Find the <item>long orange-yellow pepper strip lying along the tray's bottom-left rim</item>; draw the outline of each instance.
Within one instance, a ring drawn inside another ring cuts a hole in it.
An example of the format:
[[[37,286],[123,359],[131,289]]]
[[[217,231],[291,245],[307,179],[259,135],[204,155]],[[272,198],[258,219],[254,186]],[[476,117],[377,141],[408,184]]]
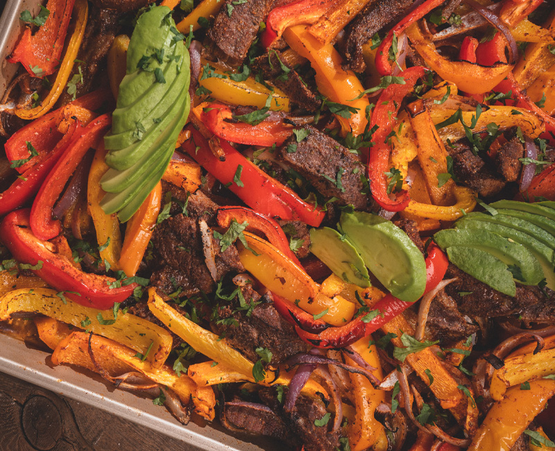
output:
[[[103,361],[115,360],[126,364],[132,371],[142,373],[153,382],[167,386],[173,390],[184,405],[194,404],[194,411],[206,418],[214,419],[216,399],[210,387],[198,387],[187,375],[178,376],[169,366],[155,368],[148,361],[137,357],[134,350],[115,341],[92,335],[90,347],[94,358],[100,364]],[[97,371],[89,356],[89,334],[74,332],[67,339],[60,342],[52,354],[52,362],[59,364],[74,364]]]

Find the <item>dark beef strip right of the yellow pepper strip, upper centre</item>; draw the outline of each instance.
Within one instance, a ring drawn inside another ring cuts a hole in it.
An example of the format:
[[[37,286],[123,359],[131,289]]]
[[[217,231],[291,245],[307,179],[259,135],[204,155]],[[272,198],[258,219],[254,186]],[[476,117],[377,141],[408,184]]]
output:
[[[282,65],[289,69],[284,73]],[[300,76],[285,62],[278,51],[257,57],[253,62],[253,70],[261,71],[265,80],[271,80],[287,96],[293,105],[299,105],[307,111],[316,111],[322,101],[316,97]]]

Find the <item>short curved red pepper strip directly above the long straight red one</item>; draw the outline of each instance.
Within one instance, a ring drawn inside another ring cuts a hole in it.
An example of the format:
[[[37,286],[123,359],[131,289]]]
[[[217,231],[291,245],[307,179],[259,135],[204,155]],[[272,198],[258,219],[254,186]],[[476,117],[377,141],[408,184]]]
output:
[[[280,146],[293,134],[293,127],[282,121],[264,120],[255,126],[245,122],[227,122],[232,119],[231,108],[221,103],[210,103],[200,114],[200,120],[214,135],[226,141],[251,146]]]

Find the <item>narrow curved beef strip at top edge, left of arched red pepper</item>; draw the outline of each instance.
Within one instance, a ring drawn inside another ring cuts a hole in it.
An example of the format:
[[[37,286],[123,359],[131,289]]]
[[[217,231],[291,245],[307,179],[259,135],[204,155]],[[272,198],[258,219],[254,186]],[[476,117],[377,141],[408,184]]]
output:
[[[345,41],[340,50],[345,56],[345,69],[363,72],[366,63],[362,46],[388,24],[398,22],[412,5],[412,0],[372,0],[345,28]],[[382,36],[383,37],[383,36]]]

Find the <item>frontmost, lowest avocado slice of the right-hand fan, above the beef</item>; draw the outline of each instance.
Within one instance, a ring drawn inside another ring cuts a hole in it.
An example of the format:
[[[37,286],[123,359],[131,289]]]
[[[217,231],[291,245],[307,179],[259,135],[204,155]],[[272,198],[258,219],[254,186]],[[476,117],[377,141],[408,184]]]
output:
[[[447,257],[461,271],[472,275],[499,293],[515,296],[516,284],[509,267],[485,250],[451,246],[447,248]]]

